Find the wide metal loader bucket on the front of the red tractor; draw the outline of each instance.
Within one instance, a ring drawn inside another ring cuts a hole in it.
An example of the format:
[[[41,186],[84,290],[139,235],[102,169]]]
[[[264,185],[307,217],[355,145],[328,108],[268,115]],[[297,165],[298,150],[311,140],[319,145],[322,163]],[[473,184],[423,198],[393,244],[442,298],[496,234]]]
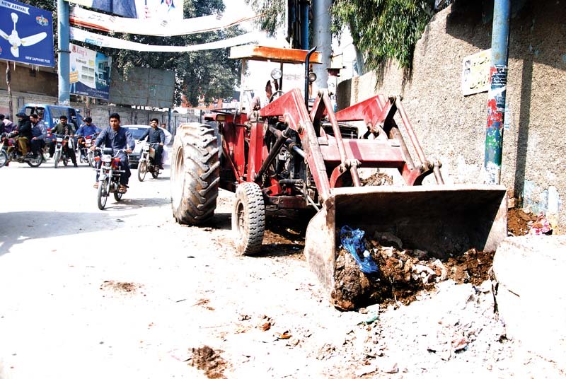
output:
[[[342,226],[360,228],[367,238],[391,233],[403,249],[446,258],[471,248],[495,251],[507,236],[504,186],[430,185],[343,187],[311,219],[304,254],[333,299]],[[377,238],[376,238],[377,240]]]

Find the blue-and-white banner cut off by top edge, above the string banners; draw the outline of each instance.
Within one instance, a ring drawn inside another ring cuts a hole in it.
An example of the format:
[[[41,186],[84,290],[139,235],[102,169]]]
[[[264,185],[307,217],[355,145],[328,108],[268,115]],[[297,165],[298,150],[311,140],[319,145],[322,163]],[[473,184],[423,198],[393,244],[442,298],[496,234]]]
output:
[[[127,18],[183,20],[183,0],[67,0]]]

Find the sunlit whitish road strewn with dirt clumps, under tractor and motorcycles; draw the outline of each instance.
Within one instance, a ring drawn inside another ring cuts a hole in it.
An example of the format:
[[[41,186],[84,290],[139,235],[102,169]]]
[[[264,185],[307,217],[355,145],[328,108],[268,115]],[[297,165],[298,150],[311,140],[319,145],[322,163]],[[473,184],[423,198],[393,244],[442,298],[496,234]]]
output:
[[[209,225],[180,226],[169,170],[136,173],[100,211],[86,165],[0,169],[0,379],[542,377],[504,338],[489,286],[446,285],[457,294],[444,308],[428,295],[340,312],[309,272],[300,232],[237,257],[231,193]],[[469,310],[468,322],[451,310]],[[423,339],[464,326],[454,349]]]

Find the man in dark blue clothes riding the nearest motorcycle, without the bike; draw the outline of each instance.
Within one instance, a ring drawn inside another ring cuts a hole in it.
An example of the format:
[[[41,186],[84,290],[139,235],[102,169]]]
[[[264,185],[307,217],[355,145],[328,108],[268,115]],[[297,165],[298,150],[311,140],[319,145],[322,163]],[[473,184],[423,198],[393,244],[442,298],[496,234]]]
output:
[[[120,115],[112,113],[112,115],[108,117],[108,122],[110,122],[110,127],[107,127],[98,134],[91,150],[96,150],[96,148],[100,147],[102,144],[104,144],[105,147],[111,147],[114,150],[126,150],[126,153],[120,152],[119,154],[120,170],[125,172],[120,173],[120,187],[118,187],[118,192],[125,194],[127,191],[129,177],[132,175],[129,170],[127,154],[132,153],[132,150],[134,150],[134,147],[136,146],[136,142],[132,138],[132,134],[130,134],[128,129],[120,127]],[[93,186],[95,188],[98,188],[98,175],[100,174],[98,168],[100,168],[100,163],[97,163],[96,183]]]

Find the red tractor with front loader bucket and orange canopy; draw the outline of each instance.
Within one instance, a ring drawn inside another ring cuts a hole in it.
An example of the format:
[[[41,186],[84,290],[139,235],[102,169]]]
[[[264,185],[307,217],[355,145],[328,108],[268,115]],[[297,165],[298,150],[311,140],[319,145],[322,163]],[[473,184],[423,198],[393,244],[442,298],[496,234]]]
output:
[[[320,62],[313,50],[243,47],[231,55],[305,64],[305,91],[309,65]],[[376,95],[334,112],[327,91],[312,105],[298,88],[278,94],[250,119],[219,110],[209,116],[217,127],[178,128],[171,199],[179,223],[204,223],[214,215],[219,188],[235,192],[236,250],[253,255],[262,246],[266,209],[316,209],[304,252],[328,289],[334,288],[336,230],[343,225],[389,231],[405,246],[439,257],[471,247],[493,251],[507,236],[506,189],[445,185],[400,98]],[[356,122],[364,123],[362,132]],[[364,186],[359,168],[396,169],[403,185]],[[422,185],[430,174],[436,184]]]

